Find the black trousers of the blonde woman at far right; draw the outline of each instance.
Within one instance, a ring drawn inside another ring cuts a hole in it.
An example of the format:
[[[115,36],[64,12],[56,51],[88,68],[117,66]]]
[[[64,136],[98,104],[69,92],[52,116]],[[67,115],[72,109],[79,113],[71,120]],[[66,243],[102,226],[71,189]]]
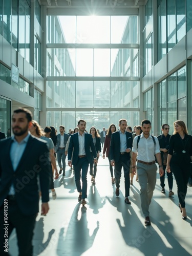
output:
[[[179,203],[182,208],[185,207],[185,197],[187,194],[187,183],[190,176],[190,163],[172,163],[170,165],[172,169],[176,182],[177,182],[177,194],[179,198]]]

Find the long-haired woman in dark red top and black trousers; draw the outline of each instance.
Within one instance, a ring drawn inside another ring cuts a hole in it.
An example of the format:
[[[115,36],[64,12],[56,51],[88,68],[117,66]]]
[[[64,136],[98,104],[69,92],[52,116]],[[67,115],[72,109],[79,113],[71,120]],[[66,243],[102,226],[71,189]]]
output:
[[[111,165],[111,159],[110,159],[110,142],[111,142],[111,135],[112,133],[116,132],[116,126],[115,124],[111,124],[108,132],[106,133],[106,137],[105,137],[105,141],[104,141],[104,147],[103,147],[103,159],[105,159],[105,152],[106,152],[106,157],[108,157],[109,159],[109,163],[110,163],[110,173],[111,173],[111,179],[112,179],[112,184],[115,183],[114,181],[114,176],[113,176],[113,166]]]

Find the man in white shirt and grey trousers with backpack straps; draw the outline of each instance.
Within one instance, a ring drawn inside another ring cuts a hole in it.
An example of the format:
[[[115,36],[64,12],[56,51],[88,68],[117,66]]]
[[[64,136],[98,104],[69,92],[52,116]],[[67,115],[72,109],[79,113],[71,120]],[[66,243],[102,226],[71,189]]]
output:
[[[140,184],[141,208],[145,217],[145,225],[151,225],[149,206],[153,197],[156,184],[156,159],[159,164],[160,177],[164,170],[162,166],[159,141],[157,137],[150,135],[151,122],[143,120],[141,122],[142,134],[136,136],[132,148],[132,172],[137,173]],[[155,159],[156,158],[156,159]],[[136,166],[137,159],[137,166]]]

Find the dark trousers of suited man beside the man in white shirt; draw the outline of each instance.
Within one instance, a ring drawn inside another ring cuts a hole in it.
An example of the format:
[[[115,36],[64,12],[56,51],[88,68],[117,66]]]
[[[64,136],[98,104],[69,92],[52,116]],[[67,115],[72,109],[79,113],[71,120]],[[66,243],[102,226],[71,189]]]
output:
[[[130,195],[130,159],[127,160],[127,154],[120,155],[119,161],[115,162],[115,184],[120,187],[121,169],[124,171],[125,197]]]

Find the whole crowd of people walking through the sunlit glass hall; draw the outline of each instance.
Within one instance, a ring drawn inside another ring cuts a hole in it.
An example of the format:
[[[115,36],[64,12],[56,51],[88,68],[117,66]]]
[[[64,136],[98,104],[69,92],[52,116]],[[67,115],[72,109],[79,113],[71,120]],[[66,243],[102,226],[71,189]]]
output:
[[[87,174],[96,184],[99,157],[109,160],[109,175],[116,186],[115,195],[120,195],[122,169],[124,177],[124,202],[131,204],[130,185],[134,175],[140,185],[141,209],[144,224],[151,225],[150,204],[152,201],[159,169],[161,193],[165,194],[165,173],[168,181],[168,196],[172,197],[173,179],[177,183],[179,209],[182,219],[187,219],[185,198],[190,177],[192,161],[192,137],[181,120],[174,122],[174,133],[169,135],[169,125],[162,124],[162,134],[151,134],[150,120],[142,120],[141,125],[127,125],[126,119],[120,119],[118,130],[115,124],[102,131],[92,126],[86,131],[86,121],[80,119],[69,134],[65,126],[59,126],[57,134],[54,126],[42,129],[32,120],[29,110],[19,108],[12,116],[13,136],[0,138],[0,254],[9,255],[5,250],[4,213],[7,203],[8,236],[16,228],[19,255],[32,255],[32,237],[35,218],[39,211],[39,198],[42,200],[41,215],[49,211],[49,189],[56,199],[54,179],[66,175],[66,158],[70,170],[74,169],[74,178],[78,201],[87,204]],[[9,159],[9,161],[7,161]],[[59,170],[57,170],[57,164]],[[174,177],[173,177],[174,175]],[[19,193],[18,193],[19,192]],[[27,234],[27,236],[26,236]]]

